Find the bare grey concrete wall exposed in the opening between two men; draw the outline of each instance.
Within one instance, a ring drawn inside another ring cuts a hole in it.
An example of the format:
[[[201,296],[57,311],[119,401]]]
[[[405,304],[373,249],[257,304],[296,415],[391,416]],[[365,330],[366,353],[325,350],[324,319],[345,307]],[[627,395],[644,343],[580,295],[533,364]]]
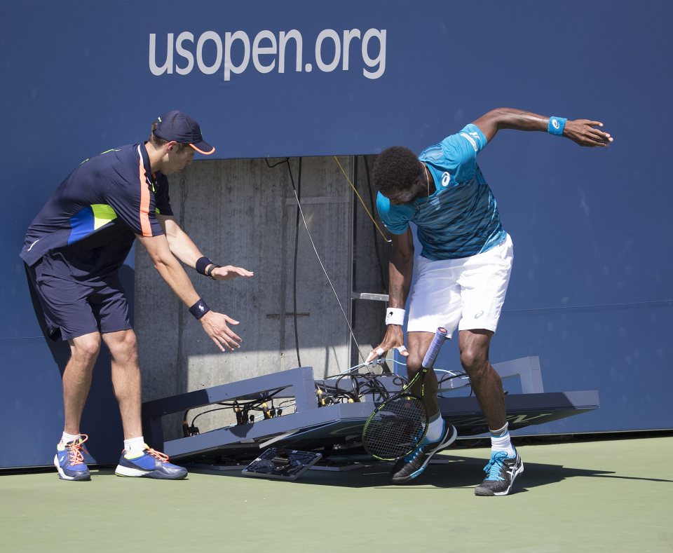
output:
[[[339,163],[351,182],[358,165],[355,181],[371,211],[365,163],[363,158],[358,158],[359,163],[355,159],[341,157]],[[136,248],[135,329],[143,400],[299,366],[293,315],[297,200],[287,163],[282,159],[268,163],[278,165],[269,168],[264,159],[197,161],[172,177],[175,216],[200,250],[219,264],[243,266],[255,275],[215,282],[188,271],[211,308],[240,321],[236,333],[243,338],[242,347],[220,353],[159,278],[147,252]],[[355,339],[367,355],[381,336],[384,304],[351,303],[351,290],[383,291],[372,222],[333,157],[302,158],[301,178],[299,164],[298,158],[290,160],[308,230],[341,306],[353,321]],[[298,229],[299,358],[301,365],[312,366],[320,378],[357,363],[358,351],[354,345],[351,348],[348,325],[301,218]],[[376,241],[387,273],[386,243],[378,233]],[[190,412],[190,420],[196,413]],[[166,418],[168,436],[179,432],[177,418]],[[198,426],[203,432],[223,422],[219,416],[203,416]]]

